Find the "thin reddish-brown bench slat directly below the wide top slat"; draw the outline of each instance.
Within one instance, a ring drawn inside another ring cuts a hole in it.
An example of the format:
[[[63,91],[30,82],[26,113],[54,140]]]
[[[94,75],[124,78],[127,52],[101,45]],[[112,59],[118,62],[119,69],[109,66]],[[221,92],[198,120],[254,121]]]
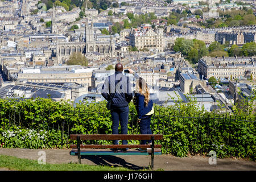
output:
[[[71,148],[77,148],[76,144],[72,144]],[[85,144],[80,148],[150,148],[150,144]],[[155,144],[154,148],[161,148],[161,144]]]

